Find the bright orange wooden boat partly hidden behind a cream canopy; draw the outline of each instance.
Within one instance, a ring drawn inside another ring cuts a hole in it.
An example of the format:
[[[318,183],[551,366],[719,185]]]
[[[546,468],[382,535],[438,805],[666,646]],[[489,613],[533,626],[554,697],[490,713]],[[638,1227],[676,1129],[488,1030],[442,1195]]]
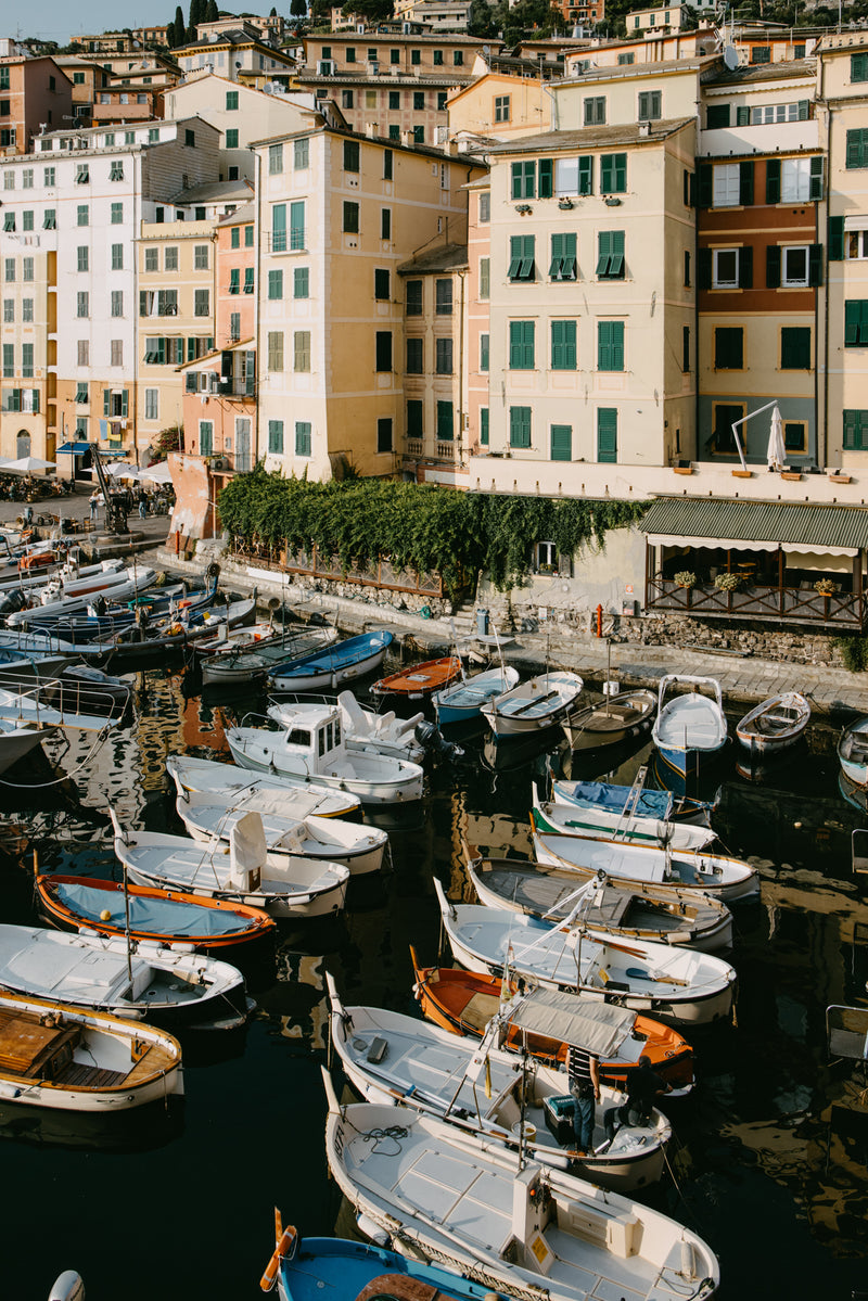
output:
[[[415,976],[414,994],[422,1011],[446,1030],[481,1038],[492,1016],[500,1011],[501,981],[498,976],[466,972],[459,967],[420,967],[415,948],[410,946]],[[511,984],[513,993],[517,985]],[[519,1049],[522,1030],[510,1026],[506,1045]],[[652,1069],[673,1089],[686,1089],[694,1084],[694,1050],[675,1030],[649,1016],[636,1016],[630,1041],[635,1039],[635,1064],[640,1055],[651,1058]],[[527,1036],[527,1050],[549,1066],[566,1063],[567,1045],[543,1034]],[[623,1045],[622,1045],[623,1050]],[[613,1088],[623,1088],[630,1063],[599,1063],[600,1079]]]

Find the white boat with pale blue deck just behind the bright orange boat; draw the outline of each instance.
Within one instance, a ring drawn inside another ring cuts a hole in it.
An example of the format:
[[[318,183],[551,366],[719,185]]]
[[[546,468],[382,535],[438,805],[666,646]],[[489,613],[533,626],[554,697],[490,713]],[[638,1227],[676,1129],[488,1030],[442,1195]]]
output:
[[[729,1016],[735,971],[712,954],[634,939],[614,943],[569,919],[556,925],[510,909],[453,904],[435,877],[454,958],[471,972],[530,977],[549,989],[614,999],[634,1012],[704,1025]]]

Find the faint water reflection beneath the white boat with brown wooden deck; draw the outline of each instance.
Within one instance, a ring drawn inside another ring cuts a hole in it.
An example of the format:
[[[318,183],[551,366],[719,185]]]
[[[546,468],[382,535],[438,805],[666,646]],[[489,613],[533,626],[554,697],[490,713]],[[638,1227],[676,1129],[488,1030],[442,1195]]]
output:
[[[22,1107],[0,1101],[0,1138],[39,1147],[137,1153],[165,1147],[183,1133],[183,1098],[109,1114]]]

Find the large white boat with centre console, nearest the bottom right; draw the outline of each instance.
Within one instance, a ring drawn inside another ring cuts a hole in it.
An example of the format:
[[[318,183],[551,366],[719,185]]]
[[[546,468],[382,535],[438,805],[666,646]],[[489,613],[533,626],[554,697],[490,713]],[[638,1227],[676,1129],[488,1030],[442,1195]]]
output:
[[[357,1213],[402,1252],[518,1301],[714,1293],[713,1253],[660,1211],[410,1107],[341,1107],[329,1077],[325,1086],[329,1170]],[[389,1137],[371,1141],[375,1133]]]

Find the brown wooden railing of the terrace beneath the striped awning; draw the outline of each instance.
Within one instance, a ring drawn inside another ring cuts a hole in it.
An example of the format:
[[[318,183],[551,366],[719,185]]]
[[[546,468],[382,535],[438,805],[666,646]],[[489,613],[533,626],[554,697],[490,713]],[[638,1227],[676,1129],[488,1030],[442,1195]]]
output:
[[[858,627],[864,623],[864,592],[833,592],[822,596],[807,587],[772,587],[746,583],[725,592],[713,583],[679,587],[674,579],[652,574],[645,582],[645,610],[674,610],[701,618],[785,619],[787,623],[833,623]]]

